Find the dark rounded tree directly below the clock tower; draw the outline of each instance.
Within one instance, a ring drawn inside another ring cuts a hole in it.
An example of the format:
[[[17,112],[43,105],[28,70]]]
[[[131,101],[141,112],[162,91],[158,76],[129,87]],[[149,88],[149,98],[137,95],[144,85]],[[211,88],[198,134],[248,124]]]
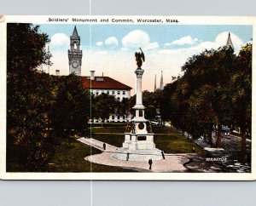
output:
[[[90,117],[90,93],[84,89],[80,77],[74,74],[56,78],[58,89],[51,112],[52,125],[62,135],[66,129],[69,140],[72,129],[86,128]]]

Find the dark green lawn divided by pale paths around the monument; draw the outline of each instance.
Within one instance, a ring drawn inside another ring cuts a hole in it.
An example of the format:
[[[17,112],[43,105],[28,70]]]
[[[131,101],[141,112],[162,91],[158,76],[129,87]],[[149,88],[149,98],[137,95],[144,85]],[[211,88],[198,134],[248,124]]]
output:
[[[193,147],[195,152],[202,151],[201,147],[179,134],[175,129],[154,128],[153,130],[156,147],[166,153],[188,153],[192,152]],[[94,127],[90,131],[92,138],[113,146],[120,147],[125,140],[124,125]],[[49,162],[49,172],[135,172],[84,161],[84,157],[96,153],[101,153],[101,151],[84,145],[74,138],[70,142],[61,139],[59,146],[55,147],[55,155]]]

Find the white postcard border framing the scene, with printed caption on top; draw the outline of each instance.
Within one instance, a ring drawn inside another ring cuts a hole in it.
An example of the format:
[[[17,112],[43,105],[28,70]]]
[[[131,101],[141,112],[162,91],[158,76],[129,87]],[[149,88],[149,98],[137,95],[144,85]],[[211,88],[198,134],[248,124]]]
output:
[[[51,19],[69,19],[65,21],[49,21]],[[110,22],[73,22],[77,19],[108,19]],[[137,18],[145,20],[163,20],[164,23],[143,22],[137,23]],[[128,22],[111,22],[115,20],[134,20]],[[165,20],[178,20],[178,23],[166,23]],[[7,23],[34,23],[34,24],[122,24],[122,25],[252,25],[253,42],[256,39],[256,17],[253,16],[82,16],[82,15],[20,15],[0,16],[0,177],[4,180],[255,180],[256,141],[252,138],[252,165],[251,173],[11,173],[6,172],[6,24]],[[253,82],[255,80],[255,45],[253,43]],[[252,136],[256,134],[255,127],[255,90],[253,83],[252,98]]]

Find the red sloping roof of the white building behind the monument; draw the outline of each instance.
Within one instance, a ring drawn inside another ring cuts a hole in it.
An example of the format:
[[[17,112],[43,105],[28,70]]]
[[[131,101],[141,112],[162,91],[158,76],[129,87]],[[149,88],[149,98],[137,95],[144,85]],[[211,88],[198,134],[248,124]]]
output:
[[[120,83],[117,80],[114,80],[111,77],[95,77],[94,80],[91,80],[90,87],[90,77],[81,77],[84,88],[88,89],[125,89],[131,90],[132,88]]]

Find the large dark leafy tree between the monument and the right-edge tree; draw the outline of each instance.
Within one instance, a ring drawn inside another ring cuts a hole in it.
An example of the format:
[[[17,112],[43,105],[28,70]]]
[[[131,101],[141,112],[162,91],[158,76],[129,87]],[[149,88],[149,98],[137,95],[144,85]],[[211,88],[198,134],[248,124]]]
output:
[[[164,89],[162,113],[169,112],[177,128],[194,138],[206,136],[210,143],[212,125],[218,125],[216,146],[221,146],[221,127],[231,121],[229,81],[235,66],[236,55],[231,49],[205,50],[193,55],[182,67],[183,76]]]

